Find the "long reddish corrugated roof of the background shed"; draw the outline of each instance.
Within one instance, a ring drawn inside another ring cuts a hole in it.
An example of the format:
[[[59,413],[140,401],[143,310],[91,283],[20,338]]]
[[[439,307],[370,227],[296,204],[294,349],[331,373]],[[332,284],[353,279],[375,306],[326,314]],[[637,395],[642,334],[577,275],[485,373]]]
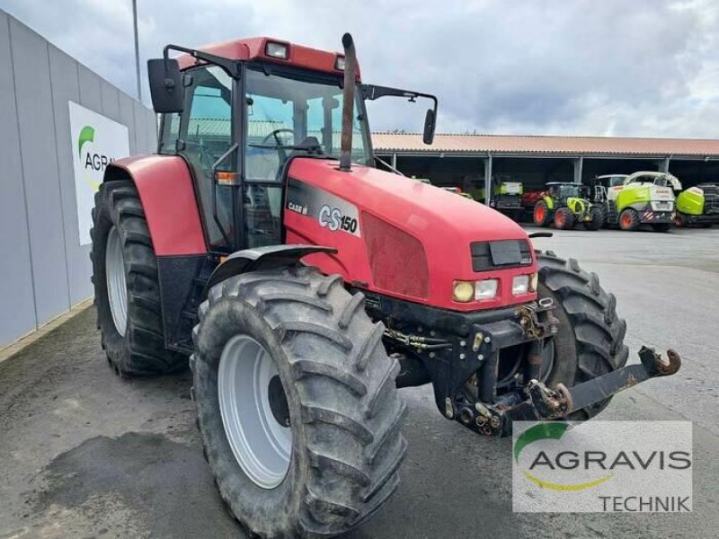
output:
[[[719,140],[698,138],[442,135],[427,146],[416,133],[372,133],[372,146],[390,153],[491,153],[536,155],[719,156]]]

